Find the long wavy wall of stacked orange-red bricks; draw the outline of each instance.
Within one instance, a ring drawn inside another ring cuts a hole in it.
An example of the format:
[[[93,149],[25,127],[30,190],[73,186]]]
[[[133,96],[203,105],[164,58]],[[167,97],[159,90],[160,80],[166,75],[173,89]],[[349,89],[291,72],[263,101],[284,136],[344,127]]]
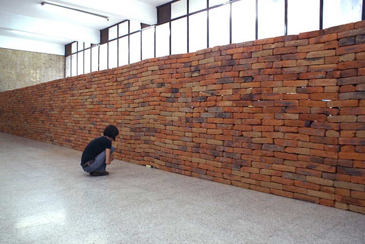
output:
[[[365,213],[365,21],[0,94],[2,132]]]

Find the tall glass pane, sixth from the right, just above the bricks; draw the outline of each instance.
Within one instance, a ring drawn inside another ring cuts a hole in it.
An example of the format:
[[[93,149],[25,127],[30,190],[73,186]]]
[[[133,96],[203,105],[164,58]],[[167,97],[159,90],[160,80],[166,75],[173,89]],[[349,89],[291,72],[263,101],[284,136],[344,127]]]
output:
[[[189,17],[189,52],[207,48],[206,11]]]

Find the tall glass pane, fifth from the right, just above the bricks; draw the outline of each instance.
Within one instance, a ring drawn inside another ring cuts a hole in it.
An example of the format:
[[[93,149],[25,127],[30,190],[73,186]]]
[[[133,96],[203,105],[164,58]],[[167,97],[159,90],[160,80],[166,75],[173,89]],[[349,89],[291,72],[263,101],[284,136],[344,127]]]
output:
[[[229,44],[229,4],[209,10],[209,47]]]

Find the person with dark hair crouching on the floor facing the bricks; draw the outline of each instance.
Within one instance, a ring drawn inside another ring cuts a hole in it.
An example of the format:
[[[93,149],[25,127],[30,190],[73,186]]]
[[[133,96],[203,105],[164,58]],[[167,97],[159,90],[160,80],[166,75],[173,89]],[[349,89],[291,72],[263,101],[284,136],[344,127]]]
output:
[[[92,176],[108,175],[107,165],[114,159],[111,155],[114,147],[111,145],[118,136],[119,131],[114,125],[108,125],[104,130],[104,136],[89,142],[81,156],[82,169]]]

